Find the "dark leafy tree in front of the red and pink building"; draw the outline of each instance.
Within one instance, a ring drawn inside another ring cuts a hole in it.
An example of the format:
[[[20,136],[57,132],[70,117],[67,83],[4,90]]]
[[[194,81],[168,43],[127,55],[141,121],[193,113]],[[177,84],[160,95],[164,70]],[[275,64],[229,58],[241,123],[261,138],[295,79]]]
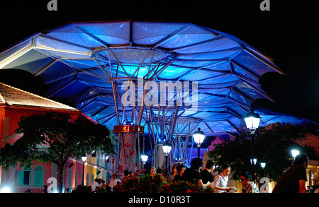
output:
[[[5,170],[21,162],[30,167],[32,162],[57,164],[57,187],[62,192],[63,168],[69,157],[81,158],[84,153],[100,149],[114,153],[110,131],[82,116],[72,119],[67,114],[45,113],[21,117],[16,133],[22,134],[12,145],[6,143],[0,150],[0,165]],[[39,146],[45,148],[40,150]]]

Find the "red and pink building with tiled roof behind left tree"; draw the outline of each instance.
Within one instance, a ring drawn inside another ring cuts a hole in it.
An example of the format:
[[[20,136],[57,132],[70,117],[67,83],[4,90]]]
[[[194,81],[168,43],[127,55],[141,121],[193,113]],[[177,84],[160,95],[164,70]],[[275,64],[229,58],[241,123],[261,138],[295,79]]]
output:
[[[67,105],[0,83],[0,148],[5,143],[14,143],[21,137],[15,131],[22,116],[45,112],[66,113],[72,119],[77,119],[79,116],[86,117],[79,110]],[[82,184],[83,174],[84,185],[89,185],[96,177],[108,182],[108,177],[111,175],[108,169],[111,169],[111,162],[106,162],[106,155],[99,150],[94,156],[88,155],[85,163],[82,160],[69,158],[63,175],[64,189],[72,189]],[[20,167],[18,163],[16,167],[9,167],[8,170],[0,167],[0,190],[7,188],[11,192],[24,193],[30,189],[32,193],[41,193],[43,186],[47,185],[49,191],[55,192],[56,178],[57,165],[54,163],[35,161],[30,168]]]

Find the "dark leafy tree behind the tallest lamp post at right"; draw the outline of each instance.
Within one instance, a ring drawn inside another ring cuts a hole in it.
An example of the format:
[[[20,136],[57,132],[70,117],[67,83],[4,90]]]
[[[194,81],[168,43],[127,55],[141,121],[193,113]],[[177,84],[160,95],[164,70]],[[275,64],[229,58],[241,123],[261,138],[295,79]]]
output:
[[[306,130],[303,126],[291,124],[271,124],[269,126],[259,127],[254,138],[254,156],[259,162],[266,162],[264,175],[270,180],[278,180],[281,174],[292,163],[291,149],[298,146],[296,140],[305,137]],[[233,179],[239,179],[242,172],[251,170],[251,140],[247,134],[240,134],[235,141],[222,143],[208,153],[208,156],[216,162],[216,165],[223,165],[228,162],[233,171]],[[306,153],[309,158],[315,155],[313,148],[298,146],[301,152]],[[262,168],[256,165],[254,172],[257,177],[261,177]]]

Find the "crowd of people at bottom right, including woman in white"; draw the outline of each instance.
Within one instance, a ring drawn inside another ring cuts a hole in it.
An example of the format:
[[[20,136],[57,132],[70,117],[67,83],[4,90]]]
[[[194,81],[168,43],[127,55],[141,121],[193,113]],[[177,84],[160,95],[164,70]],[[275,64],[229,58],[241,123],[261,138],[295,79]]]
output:
[[[304,153],[300,153],[296,156],[291,167],[286,170],[283,175],[279,178],[276,186],[273,189],[273,193],[307,193],[310,192],[310,187],[306,189],[306,169],[308,167],[308,156]],[[213,177],[212,172],[214,168],[214,162],[208,160],[205,169],[199,172],[202,165],[200,158],[195,158],[191,162],[191,167],[189,169],[181,172],[181,177],[177,179],[183,179],[189,182],[196,182],[203,188],[207,186],[213,187],[216,193],[226,193],[226,192],[237,192],[235,187],[228,187],[228,175],[230,175],[231,167],[228,163],[224,163],[221,166],[221,172]],[[174,169],[175,166],[173,166]],[[180,167],[176,167],[180,169]],[[176,173],[172,174],[177,177],[178,170]],[[172,178],[171,178],[172,179]],[[173,179],[174,180],[174,179]],[[259,193],[257,184],[252,180],[252,177],[248,172],[242,173],[240,175],[240,182],[242,184],[242,193]],[[312,192],[312,191],[311,191]],[[315,189],[315,193],[319,193],[319,189]]]

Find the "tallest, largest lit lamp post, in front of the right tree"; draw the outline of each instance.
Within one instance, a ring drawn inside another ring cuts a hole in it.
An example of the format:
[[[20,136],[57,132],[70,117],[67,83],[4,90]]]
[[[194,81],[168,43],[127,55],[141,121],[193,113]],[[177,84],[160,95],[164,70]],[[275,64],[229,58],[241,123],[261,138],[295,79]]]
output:
[[[247,129],[250,129],[250,136],[251,136],[251,146],[250,146],[250,153],[251,158],[254,158],[253,154],[253,148],[254,148],[254,132],[259,126],[260,117],[259,114],[254,113],[254,110],[252,110],[250,113],[246,114],[245,116],[245,122]],[[254,181],[254,165],[252,165],[252,180]]]

